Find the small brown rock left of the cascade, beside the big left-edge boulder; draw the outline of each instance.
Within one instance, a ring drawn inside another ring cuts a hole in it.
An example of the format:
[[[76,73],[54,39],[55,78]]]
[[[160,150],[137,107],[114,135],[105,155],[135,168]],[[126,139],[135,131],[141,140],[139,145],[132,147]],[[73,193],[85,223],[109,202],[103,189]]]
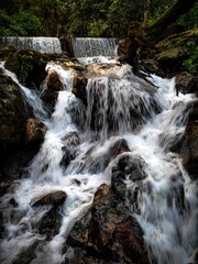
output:
[[[46,133],[46,125],[41,121],[30,118],[26,121],[26,143],[41,143],[44,140]]]

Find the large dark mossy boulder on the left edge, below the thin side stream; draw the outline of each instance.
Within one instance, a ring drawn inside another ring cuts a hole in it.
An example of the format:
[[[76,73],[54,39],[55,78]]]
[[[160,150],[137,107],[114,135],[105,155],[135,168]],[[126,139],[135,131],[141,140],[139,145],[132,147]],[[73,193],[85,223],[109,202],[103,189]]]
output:
[[[0,143],[20,143],[25,130],[25,106],[20,88],[0,75]]]

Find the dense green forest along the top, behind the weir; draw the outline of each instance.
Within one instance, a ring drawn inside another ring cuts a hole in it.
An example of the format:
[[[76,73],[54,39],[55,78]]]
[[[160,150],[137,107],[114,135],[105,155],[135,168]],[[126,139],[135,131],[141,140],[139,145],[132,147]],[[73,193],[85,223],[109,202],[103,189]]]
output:
[[[0,35],[124,37],[132,21],[152,25],[173,0],[1,0]],[[198,3],[176,23],[198,24]]]

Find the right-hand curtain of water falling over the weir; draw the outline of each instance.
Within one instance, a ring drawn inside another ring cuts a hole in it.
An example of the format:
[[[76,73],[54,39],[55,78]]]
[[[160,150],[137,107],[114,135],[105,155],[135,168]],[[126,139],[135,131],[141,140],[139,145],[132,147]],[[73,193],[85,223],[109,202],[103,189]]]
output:
[[[76,37],[72,38],[74,55],[76,57],[114,57],[117,40],[105,37]]]

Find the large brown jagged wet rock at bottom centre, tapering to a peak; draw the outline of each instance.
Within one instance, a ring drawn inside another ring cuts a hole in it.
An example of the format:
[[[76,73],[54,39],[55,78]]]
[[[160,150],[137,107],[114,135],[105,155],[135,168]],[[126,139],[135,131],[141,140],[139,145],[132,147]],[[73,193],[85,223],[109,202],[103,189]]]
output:
[[[67,239],[75,257],[65,263],[85,260],[91,263],[92,258],[92,263],[148,263],[142,235],[127,207],[107,185],[101,185],[91,208],[76,222]],[[79,249],[82,249],[80,254]]]

